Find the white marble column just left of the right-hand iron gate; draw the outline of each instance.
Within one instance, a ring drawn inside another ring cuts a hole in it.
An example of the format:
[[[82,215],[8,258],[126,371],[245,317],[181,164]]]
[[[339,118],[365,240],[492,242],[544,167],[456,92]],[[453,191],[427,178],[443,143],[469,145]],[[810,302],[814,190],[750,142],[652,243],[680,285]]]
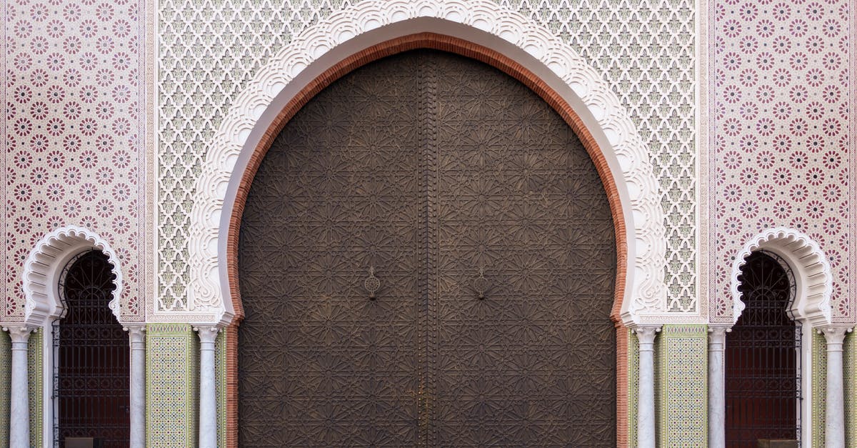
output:
[[[708,329],[708,446],[726,446],[726,382],[723,351],[726,349],[727,327]]]

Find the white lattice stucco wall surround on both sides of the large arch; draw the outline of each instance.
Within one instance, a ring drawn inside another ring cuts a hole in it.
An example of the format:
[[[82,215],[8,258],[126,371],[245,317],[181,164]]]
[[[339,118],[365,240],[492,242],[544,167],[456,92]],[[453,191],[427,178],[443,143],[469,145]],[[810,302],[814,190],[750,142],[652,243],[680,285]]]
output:
[[[159,260],[155,304],[183,311],[194,179],[231,99],[274,52],[338,0],[160,0]],[[692,0],[515,1],[614,86],[650,148],[667,215],[671,312],[696,312]]]

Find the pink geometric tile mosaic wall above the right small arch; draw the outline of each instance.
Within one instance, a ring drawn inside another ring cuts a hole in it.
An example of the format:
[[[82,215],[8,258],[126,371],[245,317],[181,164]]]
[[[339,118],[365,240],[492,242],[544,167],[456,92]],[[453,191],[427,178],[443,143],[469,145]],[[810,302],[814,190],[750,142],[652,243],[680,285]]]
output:
[[[834,276],[834,316],[847,319],[853,194],[849,51],[853,0],[719,0],[710,175],[712,322],[730,321],[734,254],[768,227],[818,241]]]

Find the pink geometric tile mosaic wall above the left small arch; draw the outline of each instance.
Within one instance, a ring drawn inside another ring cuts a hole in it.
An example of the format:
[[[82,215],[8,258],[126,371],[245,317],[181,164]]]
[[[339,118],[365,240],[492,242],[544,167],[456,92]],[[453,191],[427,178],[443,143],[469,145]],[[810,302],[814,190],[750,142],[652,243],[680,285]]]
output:
[[[23,263],[57,227],[87,227],[122,264],[128,320],[143,296],[144,4],[3,0],[3,300],[21,317]]]

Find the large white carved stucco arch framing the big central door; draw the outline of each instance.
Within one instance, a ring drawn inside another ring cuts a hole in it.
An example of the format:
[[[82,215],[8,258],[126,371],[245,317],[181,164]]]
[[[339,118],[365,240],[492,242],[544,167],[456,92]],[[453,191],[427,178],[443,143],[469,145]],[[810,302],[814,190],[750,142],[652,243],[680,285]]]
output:
[[[369,0],[333,13],[273,56],[237,95],[213,136],[191,215],[189,320],[231,321],[230,218],[249,157],[277,114],[339,61],[426,32],[498,51],[539,76],[578,113],[602,148],[620,196],[628,261],[621,318],[633,325],[665,312],[666,231],[650,154],[602,76],[548,28],[487,0]]]

